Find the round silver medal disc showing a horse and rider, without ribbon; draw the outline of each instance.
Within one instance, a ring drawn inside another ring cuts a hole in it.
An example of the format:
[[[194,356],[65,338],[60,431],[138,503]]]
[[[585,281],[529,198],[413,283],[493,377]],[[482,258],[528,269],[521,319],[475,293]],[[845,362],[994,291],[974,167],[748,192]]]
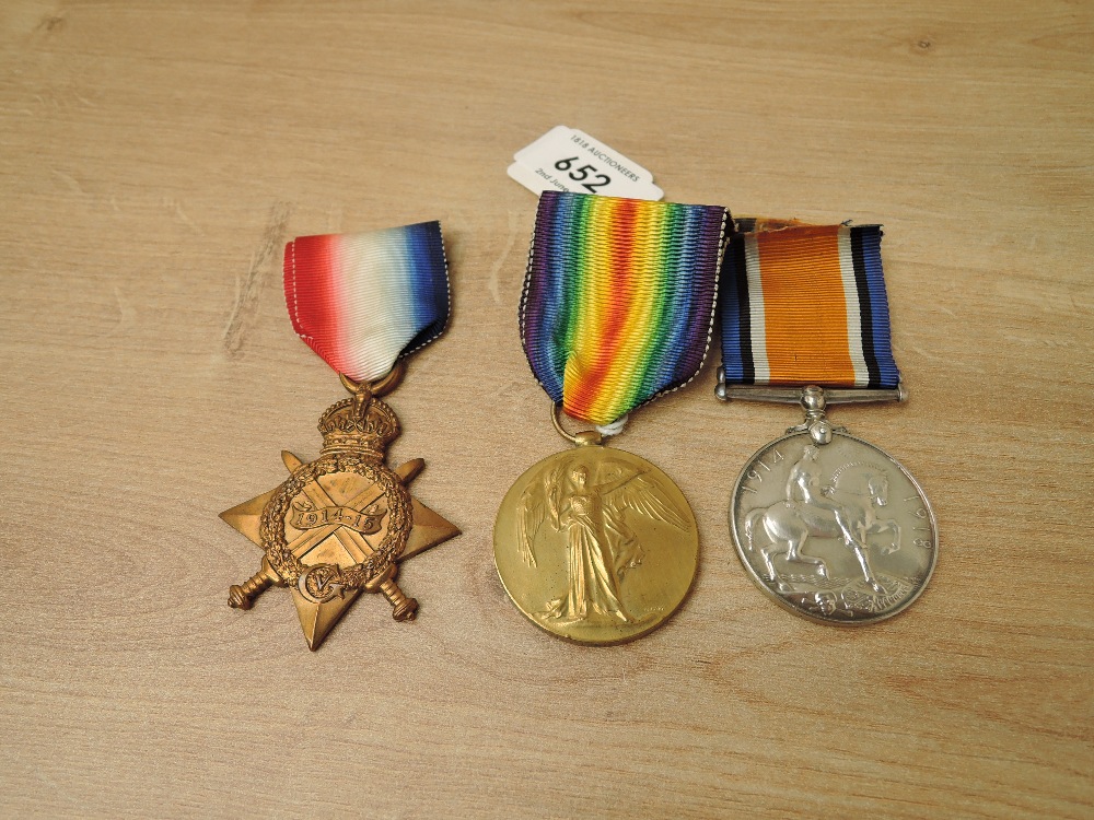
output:
[[[841,432],[821,445],[793,433],[760,449],[733,488],[730,529],[764,591],[825,623],[869,623],[908,607],[939,546],[911,475]]]

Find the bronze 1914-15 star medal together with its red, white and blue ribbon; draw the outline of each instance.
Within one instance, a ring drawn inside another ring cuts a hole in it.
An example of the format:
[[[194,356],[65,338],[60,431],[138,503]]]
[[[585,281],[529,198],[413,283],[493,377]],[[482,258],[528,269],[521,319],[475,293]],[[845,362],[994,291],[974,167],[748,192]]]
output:
[[[316,460],[283,452],[284,482],[221,513],[266,553],[261,569],[231,588],[229,605],[249,609],[270,586],[289,587],[316,649],[362,590],[382,594],[395,620],[414,619],[418,601],[396,583],[399,562],[459,535],[410,495],[420,458],[385,465],[399,422],[380,399],[401,380],[405,356],[447,323],[441,226],[298,237],[286,246],[284,294],[296,333],[350,398],[319,419]]]

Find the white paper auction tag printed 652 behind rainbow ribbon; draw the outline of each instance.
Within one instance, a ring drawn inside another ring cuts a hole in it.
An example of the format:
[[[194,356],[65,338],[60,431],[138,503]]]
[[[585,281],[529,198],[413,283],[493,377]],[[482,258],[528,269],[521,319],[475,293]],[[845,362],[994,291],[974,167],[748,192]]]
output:
[[[653,174],[584,131],[555,126],[513,155],[509,176],[534,194],[545,190],[657,200]]]

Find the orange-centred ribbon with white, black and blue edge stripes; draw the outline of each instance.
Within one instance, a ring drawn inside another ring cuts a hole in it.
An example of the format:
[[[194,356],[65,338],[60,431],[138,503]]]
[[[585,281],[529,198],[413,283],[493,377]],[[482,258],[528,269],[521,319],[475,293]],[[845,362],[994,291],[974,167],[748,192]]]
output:
[[[896,387],[880,225],[735,234],[722,278],[729,384]]]

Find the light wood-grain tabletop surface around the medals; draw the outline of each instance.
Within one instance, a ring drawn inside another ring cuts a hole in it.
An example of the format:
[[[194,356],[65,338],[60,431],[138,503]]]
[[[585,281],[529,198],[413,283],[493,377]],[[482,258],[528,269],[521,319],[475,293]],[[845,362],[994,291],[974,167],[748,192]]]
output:
[[[915,10],[911,9],[915,7]],[[0,8],[0,816],[1091,817],[1089,3],[123,3]],[[702,552],[637,643],[552,640],[493,569],[556,452],[515,311],[551,126],[737,214],[883,222],[904,406],[833,415],[929,493],[905,614],[816,625],[726,530],[796,411],[714,363],[619,446]],[[450,332],[393,460],[464,530],[307,652],[217,514],[314,457],[342,394],[292,333],[282,243],[440,219]]]

